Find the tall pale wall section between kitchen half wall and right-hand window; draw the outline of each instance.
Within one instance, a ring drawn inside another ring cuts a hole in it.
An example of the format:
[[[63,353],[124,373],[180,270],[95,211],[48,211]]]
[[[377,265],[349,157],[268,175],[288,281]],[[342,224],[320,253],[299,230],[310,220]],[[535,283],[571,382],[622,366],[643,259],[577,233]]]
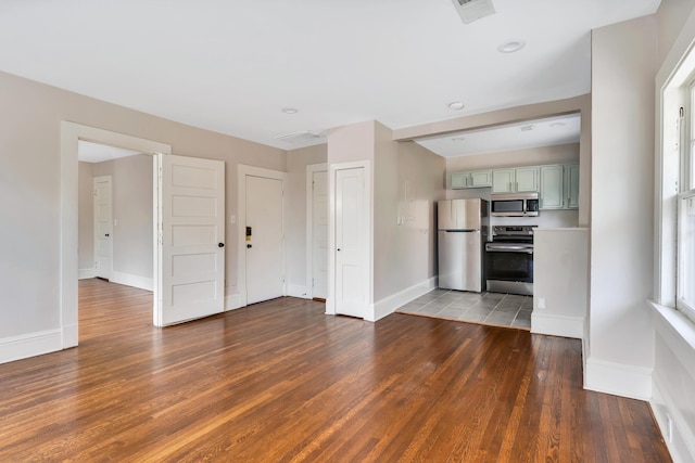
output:
[[[654,331],[654,15],[592,34],[592,218],[585,386],[610,391],[606,364],[649,369]],[[645,378],[641,381],[644,383]],[[650,385],[635,384],[633,395]],[[640,388],[642,388],[640,390]]]

